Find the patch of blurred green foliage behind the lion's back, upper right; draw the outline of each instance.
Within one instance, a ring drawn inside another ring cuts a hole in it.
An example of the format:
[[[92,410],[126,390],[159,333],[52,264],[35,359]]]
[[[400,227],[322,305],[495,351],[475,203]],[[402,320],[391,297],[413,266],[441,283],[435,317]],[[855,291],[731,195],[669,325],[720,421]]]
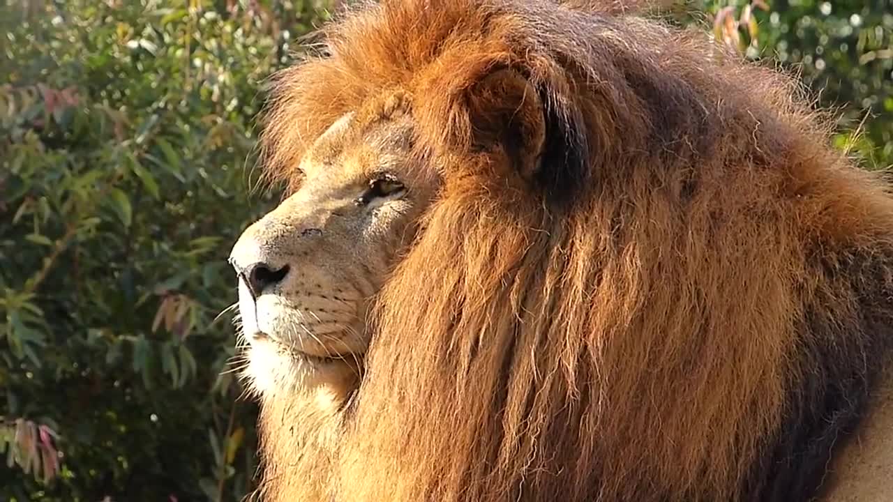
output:
[[[837,116],[838,146],[865,167],[893,166],[893,0],[695,0],[678,12],[799,75]]]

